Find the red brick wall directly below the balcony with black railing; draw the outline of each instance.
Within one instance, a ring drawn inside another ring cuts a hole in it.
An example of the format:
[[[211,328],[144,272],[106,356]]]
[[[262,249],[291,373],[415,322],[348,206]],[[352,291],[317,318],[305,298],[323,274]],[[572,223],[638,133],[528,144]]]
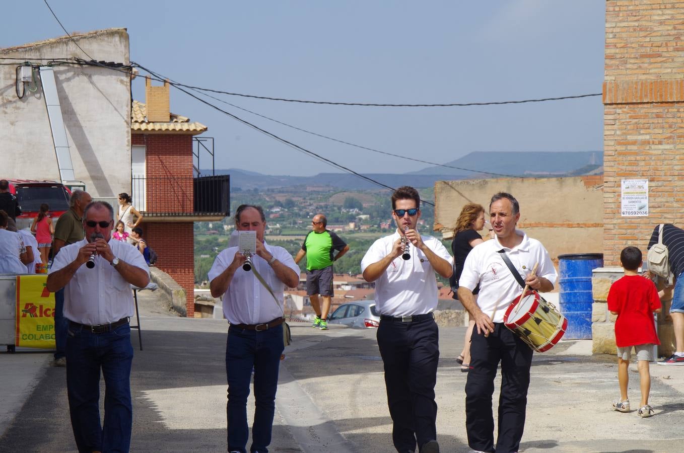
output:
[[[192,318],[195,313],[193,223],[142,221],[141,225],[144,238],[159,256],[156,266],[185,289],[187,317]]]

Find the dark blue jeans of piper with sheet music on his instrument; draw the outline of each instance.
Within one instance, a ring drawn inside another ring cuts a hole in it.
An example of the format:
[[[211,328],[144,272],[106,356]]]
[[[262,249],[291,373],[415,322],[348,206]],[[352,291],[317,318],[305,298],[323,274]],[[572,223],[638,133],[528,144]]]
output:
[[[226,376],[228,376],[228,451],[246,453],[249,437],[247,396],[254,368],[254,424],[252,453],[267,453],[271,443],[273,416],[282,343],[282,325],[265,331],[244,330],[231,326],[226,340]]]

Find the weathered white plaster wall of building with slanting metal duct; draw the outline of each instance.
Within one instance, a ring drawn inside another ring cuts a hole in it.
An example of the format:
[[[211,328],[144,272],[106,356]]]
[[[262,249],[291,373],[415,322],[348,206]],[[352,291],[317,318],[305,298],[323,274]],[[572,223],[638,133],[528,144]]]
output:
[[[97,61],[129,64],[125,29],[76,36]],[[0,57],[88,59],[68,38],[0,49]],[[7,59],[1,60],[8,62]],[[131,190],[131,81],[127,72],[94,66],[55,66],[55,82],[77,180],[93,197]],[[0,177],[60,180],[45,101],[38,83],[15,94],[15,66],[0,66]]]

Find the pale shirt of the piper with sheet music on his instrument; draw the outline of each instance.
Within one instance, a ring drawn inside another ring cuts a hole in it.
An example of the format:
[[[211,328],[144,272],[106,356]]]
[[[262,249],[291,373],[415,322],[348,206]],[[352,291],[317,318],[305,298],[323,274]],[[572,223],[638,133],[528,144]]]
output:
[[[282,247],[264,245],[267,251],[276,257],[276,260],[285,264],[297,275],[300,274],[299,266],[295,264],[295,260],[287,253],[287,250]],[[218,254],[209,269],[209,282],[231,265],[237,250],[237,247],[228,247]],[[280,282],[272,267],[261,256],[252,255],[252,267],[257,269],[271,287],[278,301],[273,299],[271,293],[259,282],[253,271],[244,271],[242,267],[239,267],[222,298],[223,314],[231,324],[254,325],[282,317],[285,284]]]

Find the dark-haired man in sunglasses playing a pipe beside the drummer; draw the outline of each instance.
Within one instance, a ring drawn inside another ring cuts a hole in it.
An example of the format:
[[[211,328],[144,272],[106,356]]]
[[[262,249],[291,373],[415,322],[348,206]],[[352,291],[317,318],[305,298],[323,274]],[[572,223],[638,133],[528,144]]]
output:
[[[361,260],[367,282],[376,282],[380,312],[378,346],[384,363],[387,404],[393,421],[397,452],[438,453],[437,381],[439,334],[434,322],[437,282],[434,274],[451,277],[453,258],[432,236],[416,230],[421,217],[420,196],[413,187],[392,194],[392,217],[397,230],[378,239]],[[402,259],[404,242],[408,260]]]

